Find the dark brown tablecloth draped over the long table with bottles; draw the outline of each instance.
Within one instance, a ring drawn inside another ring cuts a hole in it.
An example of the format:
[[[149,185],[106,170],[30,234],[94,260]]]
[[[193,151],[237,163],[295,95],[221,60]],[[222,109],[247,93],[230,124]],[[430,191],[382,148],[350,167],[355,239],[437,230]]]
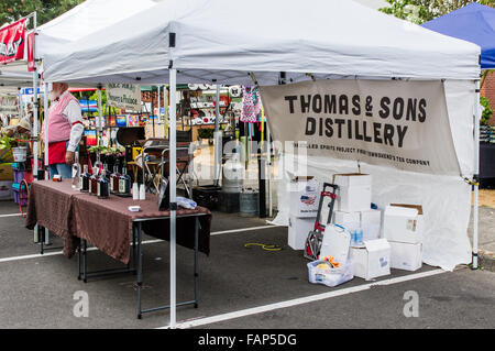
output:
[[[131,205],[139,205],[141,211],[129,211]],[[98,199],[75,191],[68,180],[42,180],[32,185],[26,227],[32,229],[37,222],[64,238],[66,256],[74,255],[80,238],[109,256],[128,263],[134,220],[163,218],[144,221],[142,229],[148,235],[169,239],[169,211],[158,211],[157,208],[157,197],[150,194],[142,201],[113,195],[109,199]],[[194,249],[195,218],[190,216],[200,216],[199,251],[209,254],[211,212],[204,207],[177,210],[177,244]]]

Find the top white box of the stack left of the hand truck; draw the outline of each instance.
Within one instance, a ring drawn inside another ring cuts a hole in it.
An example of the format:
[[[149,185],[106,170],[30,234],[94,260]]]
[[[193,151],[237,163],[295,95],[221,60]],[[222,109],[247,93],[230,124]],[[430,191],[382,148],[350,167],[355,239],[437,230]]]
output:
[[[290,216],[316,218],[320,193],[320,184],[312,177],[293,178],[290,180]]]

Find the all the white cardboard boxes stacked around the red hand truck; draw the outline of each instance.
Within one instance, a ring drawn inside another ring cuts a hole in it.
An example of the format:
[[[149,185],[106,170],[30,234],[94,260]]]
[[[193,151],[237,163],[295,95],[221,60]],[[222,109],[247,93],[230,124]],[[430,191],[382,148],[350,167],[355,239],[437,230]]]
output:
[[[372,176],[336,174],[339,186],[332,221],[351,233],[362,231],[362,242],[352,242],[350,262],[354,276],[366,281],[391,274],[392,268],[416,271],[422,262],[422,208],[417,205],[392,204],[383,213],[372,209]],[[295,177],[290,182],[288,244],[304,250],[314,230],[320,200],[320,183],[312,177]],[[320,220],[328,218],[323,204]],[[381,238],[381,230],[383,235]]]

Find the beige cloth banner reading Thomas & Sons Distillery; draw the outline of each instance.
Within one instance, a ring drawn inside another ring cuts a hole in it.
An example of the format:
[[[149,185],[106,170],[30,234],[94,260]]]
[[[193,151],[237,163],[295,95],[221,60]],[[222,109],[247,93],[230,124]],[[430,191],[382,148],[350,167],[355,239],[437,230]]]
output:
[[[295,152],[460,174],[441,81],[317,80],[261,94],[274,140]]]

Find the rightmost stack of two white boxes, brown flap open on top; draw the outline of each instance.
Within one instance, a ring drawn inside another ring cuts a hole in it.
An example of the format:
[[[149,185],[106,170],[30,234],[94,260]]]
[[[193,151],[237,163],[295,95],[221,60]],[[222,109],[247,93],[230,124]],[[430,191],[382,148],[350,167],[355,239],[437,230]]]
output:
[[[416,271],[422,264],[422,207],[392,204],[384,215],[384,237],[392,249],[392,267]]]

